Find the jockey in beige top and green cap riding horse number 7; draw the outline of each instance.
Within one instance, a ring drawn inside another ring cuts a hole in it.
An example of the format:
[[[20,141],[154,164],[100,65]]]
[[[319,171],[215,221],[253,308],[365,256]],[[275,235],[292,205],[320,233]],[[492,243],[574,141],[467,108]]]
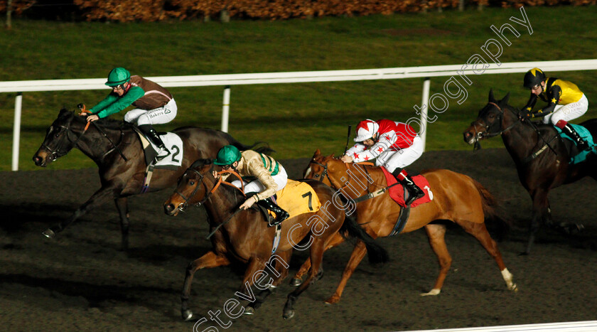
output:
[[[263,208],[276,213],[276,220],[269,226],[278,225],[286,218],[289,218],[289,214],[271,199],[271,196],[274,196],[277,191],[281,191],[288,182],[286,170],[271,156],[252,150],[242,151],[241,153],[236,146],[227,145],[217,152],[217,158],[214,159],[213,164],[222,166],[224,170],[232,168],[242,177],[252,176],[257,178],[249,183],[244,182],[244,193],[256,194],[247,198],[239,208],[247,210],[254,203],[257,203]],[[213,171],[213,176],[219,178],[220,174]],[[232,181],[232,184],[241,187],[239,180]]]

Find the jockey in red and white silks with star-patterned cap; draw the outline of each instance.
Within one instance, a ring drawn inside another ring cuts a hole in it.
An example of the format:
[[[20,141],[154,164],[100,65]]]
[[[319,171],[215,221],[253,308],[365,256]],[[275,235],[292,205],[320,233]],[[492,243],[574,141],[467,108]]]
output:
[[[375,165],[384,166],[404,188],[407,188],[407,205],[424,196],[421,188],[416,186],[404,170],[404,167],[412,164],[423,154],[423,141],[413,127],[387,119],[366,119],[359,122],[356,132],[357,144],[340,157],[342,161],[358,163],[375,159]]]

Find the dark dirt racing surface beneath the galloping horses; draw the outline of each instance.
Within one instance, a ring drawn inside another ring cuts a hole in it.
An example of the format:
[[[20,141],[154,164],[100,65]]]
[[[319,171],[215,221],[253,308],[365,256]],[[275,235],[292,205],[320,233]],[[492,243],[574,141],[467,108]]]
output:
[[[307,162],[282,161],[291,178],[299,178]],[[574,236],[544,230],[531,255],[520,256],[531,200],[505,149],[427,152],[408,170],[414,174],[424,168],[466,173],[503,200],[514,228],[498,247],[520,291],[506,289],[497,265],[473,237],[448,227],[453,264],[438,296],[419,295],[431,289],[439,266],[424,230],[417,230],[378,240],[390,262],[374,267],[364,259],[333,306],[323,301],[333,294],[353,245],[345,242],[326,252],[323,279],[301,295],[296,316],[288,321],[281,316],[293,289],[289,278],[256,315],[230,319],[222,306],[235,298],[243,267],[199,270],[190,298],[195,316],[185,322],[180,316],[185,267],[210,249],[203,208],[166,216],[162,204],[173,188],[129,198],[129,252],[119,251],[114,203],[50,240],[41,232],[68,218],[99,188],[97,170],[3,172],[0,329],[193,331],[206,317],[197,331],[210,326],[218,331],[402,331],[597,319],[592,179],[556,188],[549,196],[554,220],[583,223],[586,230]],[[306,257],[307,252],[294,253],[291,275]],[[210,319],[210,312],[220,323]]]

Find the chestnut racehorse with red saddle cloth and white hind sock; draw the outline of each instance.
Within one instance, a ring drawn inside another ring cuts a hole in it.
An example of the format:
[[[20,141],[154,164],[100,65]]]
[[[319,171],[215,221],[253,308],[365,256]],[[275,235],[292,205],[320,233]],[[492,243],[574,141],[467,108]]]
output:
[[[512,274],[506,268],[495,241],[485,227],[485,218],[502,220],[497,214],[497,202],[491,193],[472,178],[447,169],[424,171],[421,175],[429,181],[433,199],[429,203],[411,208],[410,216],[402,231],[399,232],[402,234],[425,227],[431,249],[438,258],[440,271],[434,288],[429,293],[421,295],[439,294],[450,269],[452,259],[444,240],[446,220],[460,225],[466,232],[473,235],[495,259],[507,289],[517,291],[516,284],[512,282]],[[402,207],[394,202],[387,192],[373,198],[360,200],[365,195],[375,193],[386,186],[386,179],[380,167],[345,164],[340,159],[335,159],[333,155],[322,156],[318,149],[305,170],[305,178],[317,179],[332,186],[340,191],[345,198],[348,198],[349,203],[350,200],[354,202],[359,198],[354,210],[357,223],[373,238],[392,234]],[[338,245],[340,242],[343,242],[343,239],[335,236],[330,242],[330,247]],[[365,252],[366,248],[362,243],[355,245],[340,284],[335,293],[326,300],[326,303],[334,304],[340,301],[346,282]],[[307,261],[299,269],[292,280],[293,284],[300,284],[302,274],[308,265]]]

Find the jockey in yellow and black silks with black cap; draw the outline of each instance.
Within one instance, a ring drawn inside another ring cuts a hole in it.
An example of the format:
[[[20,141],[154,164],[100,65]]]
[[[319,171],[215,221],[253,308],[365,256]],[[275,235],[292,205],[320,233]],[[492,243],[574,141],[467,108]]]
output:
[[[581,117],[588,109],[588,100],[579,87],[569,81],[545,77],[539,68],[527,71],[524,85],[531,90],[531,97],[524,107],[523,116],[526,118],[543,117],[544,124],[554,124],[571,137],[579,149],[589,150],[587,142],[568,123],[571,119]],[[537,97],[547,102],[547,106],[532,112]]]

